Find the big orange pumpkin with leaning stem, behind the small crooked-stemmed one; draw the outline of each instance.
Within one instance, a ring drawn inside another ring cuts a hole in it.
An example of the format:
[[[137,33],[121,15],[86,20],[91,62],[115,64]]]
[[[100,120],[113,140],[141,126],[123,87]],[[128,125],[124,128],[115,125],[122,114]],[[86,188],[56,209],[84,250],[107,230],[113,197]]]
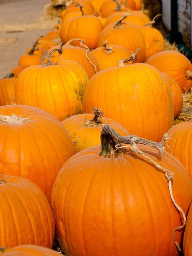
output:
[[[106,40],[109,45],[120,45],[132,52],[140,47],[136,62],[144,62],[145,40],[141,29],[130,22],[123,22],[125,18],[126,16],[123,16],[117,22],[103,28],[98,36],[97,47],[101,47]]]

